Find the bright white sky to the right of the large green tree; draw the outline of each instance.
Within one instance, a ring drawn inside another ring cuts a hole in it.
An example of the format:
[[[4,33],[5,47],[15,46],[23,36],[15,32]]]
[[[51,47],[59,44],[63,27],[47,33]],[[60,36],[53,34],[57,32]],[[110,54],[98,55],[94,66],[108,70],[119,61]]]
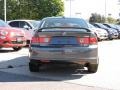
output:
[[[88,19],[91,13],[97,13],[104,16],[111,14],[111,17],[119,18],[120,5],[118,0],[71,0],[71,4],[70,0],[64,0],[64,4],[64,16],[67,17]]]

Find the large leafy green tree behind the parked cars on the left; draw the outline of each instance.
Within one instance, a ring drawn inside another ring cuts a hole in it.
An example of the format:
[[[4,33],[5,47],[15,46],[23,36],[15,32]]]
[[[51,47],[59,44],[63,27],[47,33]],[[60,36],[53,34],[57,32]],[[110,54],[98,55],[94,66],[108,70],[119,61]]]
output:
[[[63,15],[62,0],[7,0],[7,20]]]

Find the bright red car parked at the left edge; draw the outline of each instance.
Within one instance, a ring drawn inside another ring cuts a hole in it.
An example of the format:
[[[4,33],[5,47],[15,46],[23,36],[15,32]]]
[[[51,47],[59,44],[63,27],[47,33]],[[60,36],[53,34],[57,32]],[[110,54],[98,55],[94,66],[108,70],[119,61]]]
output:
[[[12,28],[0,20],[0,48],[13,48],[18,51],[25,45],[25,32],[18,28]]]

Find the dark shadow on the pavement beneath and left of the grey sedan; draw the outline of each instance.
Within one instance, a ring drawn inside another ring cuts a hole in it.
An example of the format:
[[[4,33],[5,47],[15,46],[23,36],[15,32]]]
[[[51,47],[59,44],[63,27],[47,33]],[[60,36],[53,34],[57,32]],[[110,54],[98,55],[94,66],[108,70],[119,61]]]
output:
[[[0,62],[0,82],[65,81],[80,79],[88,74],[72,67],[45,68],[33,73],[28,69],[28,56]]]

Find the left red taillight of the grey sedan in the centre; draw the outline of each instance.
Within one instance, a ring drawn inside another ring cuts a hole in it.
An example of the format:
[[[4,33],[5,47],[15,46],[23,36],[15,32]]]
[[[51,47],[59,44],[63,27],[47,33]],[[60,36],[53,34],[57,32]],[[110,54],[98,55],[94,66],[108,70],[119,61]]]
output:
[[[50,42],[50,37],[33,37],[32,38],[32,43],[39,43],[39,44],[45,44],[45,43],[49,43]]]

